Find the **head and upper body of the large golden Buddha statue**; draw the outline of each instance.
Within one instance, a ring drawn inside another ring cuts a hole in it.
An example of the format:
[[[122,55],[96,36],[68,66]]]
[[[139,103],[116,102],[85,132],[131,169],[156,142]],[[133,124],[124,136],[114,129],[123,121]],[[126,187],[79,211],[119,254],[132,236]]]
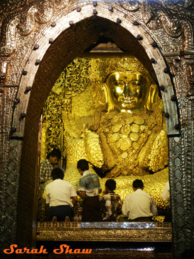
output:
[[[109,178],[164,169],[168,163],[166,125],[161,108],[153,104],[156,85],[144,73],[127,71],[109,74],[105,87],[108,111],[100,106],[93,116],[74,119],[63,112],[71,136],[80,123],[74,144],[77,151],[83,145],[82,158],[109,172]],[[67,165],[76,162],[69,157],[75,158],[75,153],[73,139],[67,139]]]

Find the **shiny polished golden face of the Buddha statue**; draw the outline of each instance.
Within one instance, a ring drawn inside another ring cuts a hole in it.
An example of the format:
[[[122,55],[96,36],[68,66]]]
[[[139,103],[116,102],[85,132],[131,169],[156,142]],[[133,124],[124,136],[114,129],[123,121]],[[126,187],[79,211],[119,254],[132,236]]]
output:
[[[140,73],[115,72],[106,81],[111,101],[119,110],[135,110],[147,101],[149,84]]]

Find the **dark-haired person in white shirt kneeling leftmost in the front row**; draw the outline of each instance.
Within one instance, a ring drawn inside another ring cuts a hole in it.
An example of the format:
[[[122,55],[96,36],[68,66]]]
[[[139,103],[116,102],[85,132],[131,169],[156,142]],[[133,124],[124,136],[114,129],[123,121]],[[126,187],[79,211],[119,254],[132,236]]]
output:
[[[78,201],[76,190],[71,183],[63,180],[64,173],[61,169],[55,168],[51,177],[53,182],[46,186],[46,202],[50,203],[47,221],[69,222],[72,219],[72,207]]]

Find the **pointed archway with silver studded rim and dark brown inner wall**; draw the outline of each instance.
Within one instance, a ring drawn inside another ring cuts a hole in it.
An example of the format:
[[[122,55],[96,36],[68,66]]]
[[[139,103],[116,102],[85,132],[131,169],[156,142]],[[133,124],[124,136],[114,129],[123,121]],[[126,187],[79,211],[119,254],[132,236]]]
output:
[[[153,46],[153,42],[160,44],[160,39],[154,34],[149,34],[145,26],[135,23],[133,12],[127,15],[121,6],[115,8],[113,12],[108,9],[105,3],[99,3],[94,12],[92,3],[81,5],[77,3],[71,6],[71,10],[62,11],[55,16],[55,21],[49,21],[44,29],[39,33],[37,40],[31,45],[28,57],[23,59],[21,65],[23,73],[17,98],[20,102],[16,104],[13,116],[12,138],[23,139],[22,158],[20,170],[20,185],[18,201],[18,223],[17,238],[23,244],[31,243],[32,229],[35,226],[35,207],[36,207],[36,152],[38,139],[38,121],[41,109],[48,97],[52,86],[58,78],[62,69],[70,63],[79,53],[83,52],[93,42],[97,41],[99,35],[106,35],[114,42],[127,51],[131,51],[147,68],[150,73],[154,73],[160,86],[165,86],[162,92],[165,111],[170,114],[167,121],[167,131],[169,134],[170,152],[170,182],[171,186],[182,179],[180,152],[174,152],[174,147],[181,145],[180,139],[175,137],[178,131],[178,116],[176,103],[171,100],[174,95],[172,81],[169,70],[160,52],[160,49]],[[135,8],[135,7],[134,7]],[[139,6],[137,7],[139,8]],[[61,8],[62,10],[63,8]],[[135,9],[133,10],[135,11]],[[139,38],[139,36],[141,39]],[[139,39],[140,40],[139,40]],[[154,44],[155,45],[155,44]],[[150,59],[154,58],[156,63],[152,64]],[[39,62],[40,61],[40,62]],[[25,65],[26,63],[26,65]],[[165,70],[166,69],[166,70]],[[21,71],[19,71],[21,74]],[[26,88],[30,86],[30,88]],[[29,90],[30,89],[30,90]],[[21,118],[21,114],[25,117]],[[25,127],[24,127],[25,126]],[[174,138],[175,137],[175,138]],[[21,147],[20,147],[21,148]],[[178,153],[177,153],[178,152]],[[20,159],[19,159],[20,160]],[[19,162],[20,163],[20,162]],[[174,178],[174,175],[176,179]],[[173,186],[173,188],[175,188]],[[35,190],[35,191],[34,191]],[[176,191],[171,191],[172,206],[178,202],[183,203],[182,184],[178,184]],[[172,207],[173,208],[173,207]],[[23,215],[22,210],[28,211]],[[173,212],[175,219],[177,212]],[[179,219],[174,221],[174,240],[178,229],[184,226],[184,210],[179,210]],[[22,237],[22,238],[21,238]],[[180,251],[185,249],[184,232],[181,232],[179,242]],[[177,243],[178,246],[178,243]]]

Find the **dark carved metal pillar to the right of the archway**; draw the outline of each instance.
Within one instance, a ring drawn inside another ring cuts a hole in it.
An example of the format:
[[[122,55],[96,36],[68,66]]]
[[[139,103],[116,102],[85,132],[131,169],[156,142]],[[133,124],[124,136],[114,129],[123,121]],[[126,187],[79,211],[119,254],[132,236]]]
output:
[[[174,82],[180,137],[169,138],[174,257],[194,249],[194,87],[192,57],[167,58]]]

